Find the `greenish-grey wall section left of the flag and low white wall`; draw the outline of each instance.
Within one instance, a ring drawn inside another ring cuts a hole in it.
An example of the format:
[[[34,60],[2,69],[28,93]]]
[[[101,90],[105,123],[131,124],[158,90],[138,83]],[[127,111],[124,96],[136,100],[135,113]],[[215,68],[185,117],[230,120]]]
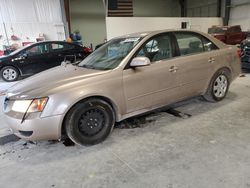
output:
[[[70,0],[70,20],[72,32],[80,30],[84,45],[96,46],[106,38],[102,0]]]

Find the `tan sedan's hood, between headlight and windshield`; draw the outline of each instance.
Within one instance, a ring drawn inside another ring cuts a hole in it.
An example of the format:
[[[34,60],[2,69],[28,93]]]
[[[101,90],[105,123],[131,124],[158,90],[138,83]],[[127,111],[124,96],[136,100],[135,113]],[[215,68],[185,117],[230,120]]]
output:
[[[13,85],[7,90],[9,99],[32,99],[52,95],[67,88],[79,87],[88,78],[107,74],[111,70],[94,70],[68,64],[41,72]]]

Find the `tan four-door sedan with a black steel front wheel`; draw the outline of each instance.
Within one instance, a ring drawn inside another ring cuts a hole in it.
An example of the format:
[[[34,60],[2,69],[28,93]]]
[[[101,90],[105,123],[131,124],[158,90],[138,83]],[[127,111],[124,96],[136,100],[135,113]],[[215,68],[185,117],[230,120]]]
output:
[[[28,140],[68,136],[92,145],[115,122],[192,96],[222,100],[239,51],[202,32],[165,30],[110,40],[77,65],[32,76],[6,93],[5,119]]]

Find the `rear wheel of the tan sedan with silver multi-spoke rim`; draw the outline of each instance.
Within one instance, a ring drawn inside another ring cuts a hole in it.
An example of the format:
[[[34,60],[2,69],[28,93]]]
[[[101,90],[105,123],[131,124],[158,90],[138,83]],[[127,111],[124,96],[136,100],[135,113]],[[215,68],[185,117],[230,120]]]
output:
[[[225,79],[225,81],[223,81]],[[219,82],[225,83],[226,86],[219,86]],[[216,87],[221,88],[216,90]],[[209,102],[218,102],[224,99],[227,95],[230,86],[230,72],[227,69],[221,69],[215,73],[210,81],[207,92],[203,95],[203,98]]]

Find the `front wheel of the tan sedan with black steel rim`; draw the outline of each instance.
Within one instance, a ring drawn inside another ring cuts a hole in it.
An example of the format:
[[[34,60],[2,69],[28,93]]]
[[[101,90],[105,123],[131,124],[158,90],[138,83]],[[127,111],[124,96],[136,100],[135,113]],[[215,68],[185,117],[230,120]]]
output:
[[[76,104],[66,115],[64,123],[66,134],[74,143],[94,145],[112,132],[115,114],[107,102],[88,99]]]

